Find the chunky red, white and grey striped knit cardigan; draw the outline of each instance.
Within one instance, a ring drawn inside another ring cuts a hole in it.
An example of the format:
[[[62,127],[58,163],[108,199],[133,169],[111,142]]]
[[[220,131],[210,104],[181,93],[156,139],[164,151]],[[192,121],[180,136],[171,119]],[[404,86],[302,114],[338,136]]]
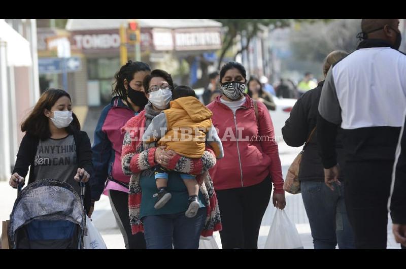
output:
[[[155,162],[156,148],[143,151],[142,135],[145,130],[145,110],[132,117],[121,128],[125,132],[121,165],[125,175],[131,175],[128,192],[128,211],[132,234],[143,232],[144,227],[140,219],[142,189],[140,175],[143,171],[151,169],[158,163]],[[180,173],[198,175],[196,180],[199,189],[206,201],[207,216],[202,237],[213,235],[214,231],[221,230],[220,211],[217,203],[216,192],[208,170],[216,164],[214,152],[207,148],[200,159],[191,159],[176,154],[170,161],[167,169]]]

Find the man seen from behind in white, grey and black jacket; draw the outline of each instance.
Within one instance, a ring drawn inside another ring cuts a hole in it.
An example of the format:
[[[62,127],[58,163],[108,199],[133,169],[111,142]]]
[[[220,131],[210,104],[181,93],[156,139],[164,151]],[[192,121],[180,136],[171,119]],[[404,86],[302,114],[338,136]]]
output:
[[[335,137],[341,126],[356,248],[386,248],[387,204],[406,107],[406,55],[398,51],[398,26],[398,19],[362,19],[364,40],[330,68],[320,97],[317,137],[325,183],[338,181]]]

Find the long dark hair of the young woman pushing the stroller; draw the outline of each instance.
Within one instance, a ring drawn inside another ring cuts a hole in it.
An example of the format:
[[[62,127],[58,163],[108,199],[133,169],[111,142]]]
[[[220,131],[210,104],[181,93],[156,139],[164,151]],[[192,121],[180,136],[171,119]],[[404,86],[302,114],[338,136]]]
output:
[[[28,115],[28,117],[21,123],[21,131],[27,132],[30,135],[39,137],[42,140],[51,137],[51,131],[49,130],[48,117],[44,115],[45,109],[51,111],[51,108],[55,105],[56,101],[66,96],[71,100],[71,95],[60,89],[48,89],[46,90],[38,100],[37,104]],[[72,113],[73,121],[66,127],[66,131],[73,133],[75,130],[80,130],[80,123],[78,117]]]

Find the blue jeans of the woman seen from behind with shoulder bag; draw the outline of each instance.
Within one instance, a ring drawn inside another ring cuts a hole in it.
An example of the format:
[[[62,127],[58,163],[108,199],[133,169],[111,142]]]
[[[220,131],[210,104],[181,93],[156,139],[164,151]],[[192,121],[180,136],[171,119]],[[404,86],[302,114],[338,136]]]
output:
[[[330,190],[323,181],[301,181],[301,196],[315,249],[354,249],[354,235],[344,200],[344,182]]]

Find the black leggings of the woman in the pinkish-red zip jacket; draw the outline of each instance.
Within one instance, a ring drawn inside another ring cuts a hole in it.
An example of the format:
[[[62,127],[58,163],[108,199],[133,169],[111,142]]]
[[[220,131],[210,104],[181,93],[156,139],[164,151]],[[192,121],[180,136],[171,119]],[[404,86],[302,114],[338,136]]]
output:
[[[223,249],[257,249],[263,214],[269,204],[272,183],[267,176],[249,187],[216,190]]]

